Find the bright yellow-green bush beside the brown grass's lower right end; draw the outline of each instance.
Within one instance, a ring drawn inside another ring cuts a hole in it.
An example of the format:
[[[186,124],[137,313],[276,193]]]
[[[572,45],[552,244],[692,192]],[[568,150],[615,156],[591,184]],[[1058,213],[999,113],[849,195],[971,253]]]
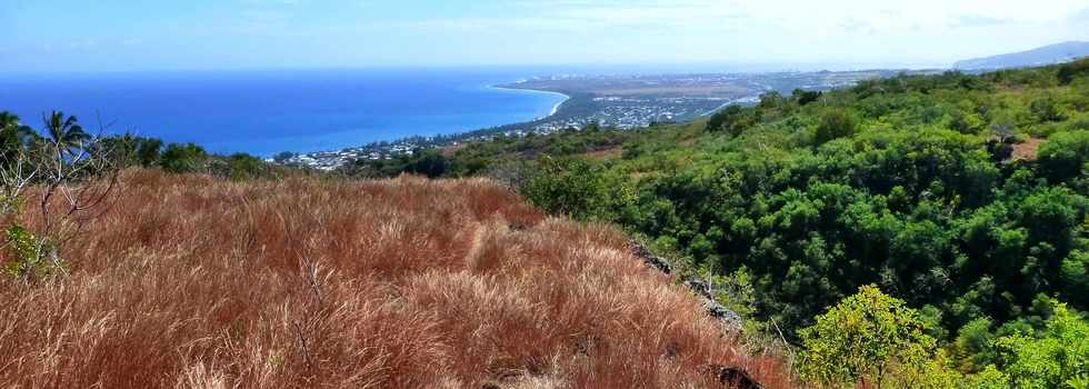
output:
[[[862,287],[799,331],[802,372],[833,387],[947,387],[946,376],[956,375],[941,365],[943,356],[925,330],[919,313],[902,300]]]

